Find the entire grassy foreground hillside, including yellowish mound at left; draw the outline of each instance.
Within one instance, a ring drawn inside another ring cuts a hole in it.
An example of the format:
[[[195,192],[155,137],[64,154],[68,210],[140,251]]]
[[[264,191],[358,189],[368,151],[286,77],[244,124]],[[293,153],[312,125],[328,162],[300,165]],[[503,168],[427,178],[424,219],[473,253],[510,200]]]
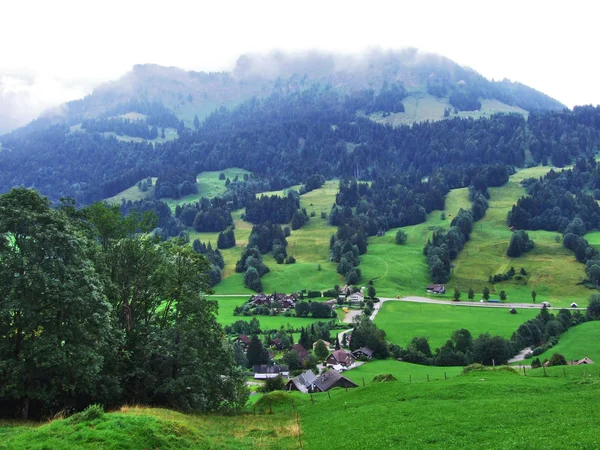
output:
[[[400,363],[366,366],[389,371],[391,364]],[[411,383],[372,383],[367,378],[371,373],[363,369],[361,375],[356,369],[360,385],[364,375],[365,387],[312,398],[300,393],[254,396],[251,413],[239,416],[125,408],[93,420],[70,418],[41,426],[0,422],[0,448],[291,449],[300,441],[306,449],[600,445],[590,426],[600,395],[598,367],[567,367],[564,372],[553,367],[547,377],[540,369],[527,371],[527,376],[503,369],[454,376],[454,368],[446,369],[447,380],[430,377],[430,382]]]

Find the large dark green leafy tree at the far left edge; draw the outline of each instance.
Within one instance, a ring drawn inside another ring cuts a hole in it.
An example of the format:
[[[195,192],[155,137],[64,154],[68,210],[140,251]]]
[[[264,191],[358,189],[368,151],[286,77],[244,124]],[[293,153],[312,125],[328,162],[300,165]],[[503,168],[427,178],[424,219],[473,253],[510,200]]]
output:
[[[0,196],[0,241],[0,397],[23,419],[81,406],[112,333],[90,241],[22,188]]]

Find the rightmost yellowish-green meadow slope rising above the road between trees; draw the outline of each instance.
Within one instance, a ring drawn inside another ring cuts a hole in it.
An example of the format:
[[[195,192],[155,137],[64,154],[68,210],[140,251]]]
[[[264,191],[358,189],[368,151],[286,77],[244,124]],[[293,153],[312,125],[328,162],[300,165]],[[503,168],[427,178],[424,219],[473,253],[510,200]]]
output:
[[[447,283],[451,289],[457,286],[462,292],[473,287],[482,292],[487,286],[493,297],[505,290],[509,302],[531,303],[531,291],[537,292],[537,303],[550,301],[552,306],[569,306],[575,301],[587,305],[593,291],[578,285],[584,277],[584,265],[577,262],[573,252],[556,242],[558,235],[549,231],[528,231],[536,247],[518,258],[506,256],[506,248],[512,235],[506,225],[506,217],[517,200],[526,194],[520,185],[528,177],[540,177],[549,167],[520,170],[510,177],[507,184],[490,188],[490,207],[483,219],[474,226],[471,239],[454,261],[456,268]],[[512,280],[490,284],[488,277],[505,273],[510,267],[518,272],[521,267],[528,272],[524,280]],[[464,294],[463,294],[464,295]]]

